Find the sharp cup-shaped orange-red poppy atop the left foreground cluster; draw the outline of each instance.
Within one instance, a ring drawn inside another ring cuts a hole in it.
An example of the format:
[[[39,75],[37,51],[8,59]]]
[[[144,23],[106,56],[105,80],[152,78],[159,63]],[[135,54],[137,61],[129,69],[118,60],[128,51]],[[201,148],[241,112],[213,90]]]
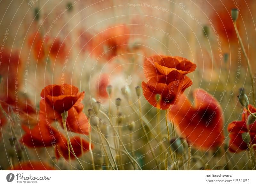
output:
[[[41,98],[40,112],[47,111],[50,118],[53,115],[52,119],[57,119],[61,113],[78,105],[84,98],[84,92],[80,93],[77,87],[69,84],[48,85],[42,90]]]

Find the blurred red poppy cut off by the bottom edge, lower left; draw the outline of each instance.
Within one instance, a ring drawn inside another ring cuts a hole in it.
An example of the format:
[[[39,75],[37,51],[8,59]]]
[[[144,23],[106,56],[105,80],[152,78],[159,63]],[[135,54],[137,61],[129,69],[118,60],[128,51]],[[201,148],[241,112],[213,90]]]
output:
[[[56,170],[54,167],[48,165],[47,163],[42,163],[41,161],[29,161],[16,164],[10,170]]]

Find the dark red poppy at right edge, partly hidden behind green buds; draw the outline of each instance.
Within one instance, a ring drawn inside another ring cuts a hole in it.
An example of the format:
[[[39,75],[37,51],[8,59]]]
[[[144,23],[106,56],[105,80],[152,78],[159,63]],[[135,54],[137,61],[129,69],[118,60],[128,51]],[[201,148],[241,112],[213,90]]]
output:
[[[248,109],[252,113],[256,112],[256,108],[252,105],[248,105]],[[247,144],[244,143],[242,139],[242,134],[244,132],[249,132],[251,136],[251,143],[256,144],[256,121],[250,125],[246,125],[246,121],[248,120],[249,115],[250,113],[244,109],[241,121],[232,121],[228,124],[228,132],[230,137],[228,145],[229,151],[238,153],[240,151],[247,150]]]

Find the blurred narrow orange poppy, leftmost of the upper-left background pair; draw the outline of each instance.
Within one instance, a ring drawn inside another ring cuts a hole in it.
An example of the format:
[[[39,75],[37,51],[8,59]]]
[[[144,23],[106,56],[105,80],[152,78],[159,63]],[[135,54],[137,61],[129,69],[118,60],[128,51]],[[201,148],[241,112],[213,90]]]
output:
[[[32,47],[34,57],[39,62],[42,62],[45,57],[43,41],[39,32],[35,32],[28,37],[28,45]]]

